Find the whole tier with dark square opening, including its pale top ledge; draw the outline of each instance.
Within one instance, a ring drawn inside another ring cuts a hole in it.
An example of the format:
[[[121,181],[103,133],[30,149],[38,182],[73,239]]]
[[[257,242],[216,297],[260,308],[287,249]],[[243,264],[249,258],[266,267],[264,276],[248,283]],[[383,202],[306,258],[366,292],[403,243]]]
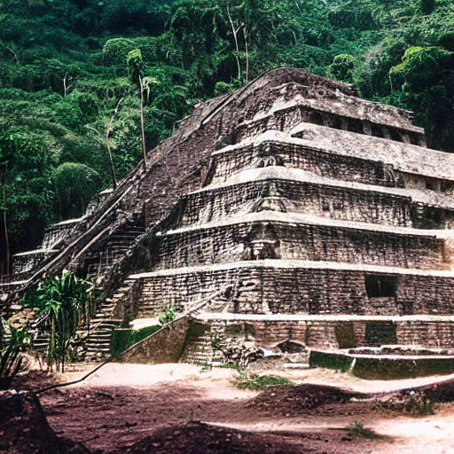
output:
[[[340,262],[262,260],[131,275],[137,317],[179,311],[230,286],[216,312],[314,315],[453,315],[454,272]]]

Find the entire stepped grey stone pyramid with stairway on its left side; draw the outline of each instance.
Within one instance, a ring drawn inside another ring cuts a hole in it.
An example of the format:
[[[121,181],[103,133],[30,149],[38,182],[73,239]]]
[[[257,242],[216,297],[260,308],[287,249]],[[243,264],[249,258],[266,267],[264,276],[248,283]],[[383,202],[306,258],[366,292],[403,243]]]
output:
[[[200,103],[146,169],[17,254],[0,304],[20,319],[43,276],[98,278],[85,360],[168,308],[176,319],[125,360],[222,363],[225,340],[450,355],[453,254],[454,154],[428,149],[411,112],[281,68]],[[45,326],[33,327],[44,347]]]

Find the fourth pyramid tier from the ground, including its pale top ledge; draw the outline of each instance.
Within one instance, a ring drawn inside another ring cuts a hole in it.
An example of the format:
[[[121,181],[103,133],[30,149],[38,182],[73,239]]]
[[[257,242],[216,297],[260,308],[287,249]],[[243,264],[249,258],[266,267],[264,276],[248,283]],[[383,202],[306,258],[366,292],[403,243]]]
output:
[[[239,174],[238,180],[207,186],[185,196],[170,228],[221,222],[261,211],[404,227],[411,227],[414,217],[416,223],[422,223],[416,204],[425,200],[419,198],[417,202],[413,194],[407,195],[400,189],[327,180],[300,169],[283,167],[247,170],[244,175]]]

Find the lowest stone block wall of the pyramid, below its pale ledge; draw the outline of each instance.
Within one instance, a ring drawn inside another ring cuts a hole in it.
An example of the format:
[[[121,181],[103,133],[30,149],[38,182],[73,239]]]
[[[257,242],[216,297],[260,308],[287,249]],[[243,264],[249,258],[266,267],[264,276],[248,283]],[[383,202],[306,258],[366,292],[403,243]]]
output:
[[[192,325],[200,324],[198,320]],[[206,330],[199,337],[192,337],[184,354],[192,357],[183,360],[196,361],[192,344],[198,344],[197,351],[204,353],[203,360],[215,357],[213,339],[236,337],[254,341],[257,347],[270,348],[284,340],[302,342],[308,348],[337,349],[356,348],[371,345],[403,344],[425,348],[454,348],[454,322],[426,321],[373,321],[373,320],[210,320]],[[377,340],[379,342],[377,342]],[[381,341],[381,342],[380,342]],[[208,353],[209,352],[209,353]]]

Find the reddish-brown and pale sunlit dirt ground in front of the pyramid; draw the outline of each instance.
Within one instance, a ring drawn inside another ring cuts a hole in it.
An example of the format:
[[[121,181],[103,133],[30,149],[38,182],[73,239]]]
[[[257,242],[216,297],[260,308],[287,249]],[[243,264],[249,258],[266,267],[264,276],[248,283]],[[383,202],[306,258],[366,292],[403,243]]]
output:
[[[373,410],[368,400],[350,401],[433,378],[379,382],[295,371],[287,375],[296,387],[259,393],[235,387],[235,373],[188,364],[107,364],[80,384],[43,393],[40,401],[59,437],[93,453],[454,452],[453,403],[411,418]],[[349,434],[345,427],[356,421],[383,438]]]

